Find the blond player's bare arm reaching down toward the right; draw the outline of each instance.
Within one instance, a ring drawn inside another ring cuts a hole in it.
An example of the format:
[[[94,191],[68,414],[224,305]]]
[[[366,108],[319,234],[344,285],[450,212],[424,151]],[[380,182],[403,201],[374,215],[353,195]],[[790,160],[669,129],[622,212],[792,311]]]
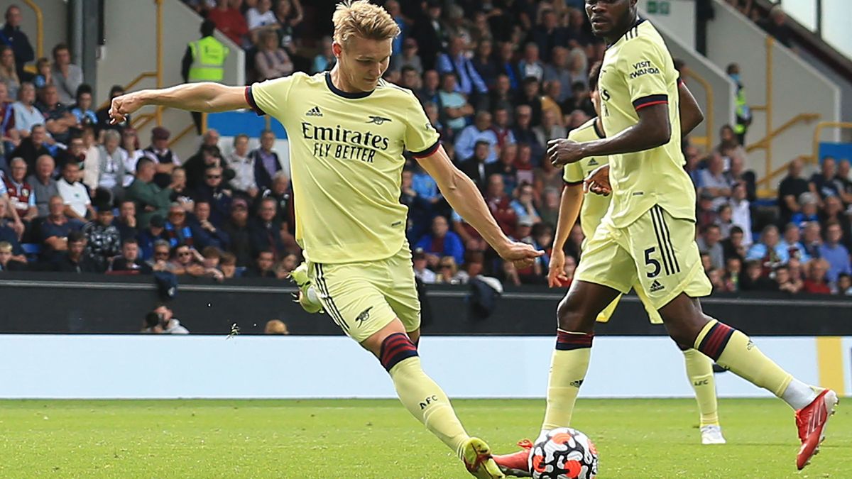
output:
[[[417,161],[423,166],[423,170],[435,178],[447,203],[458,211],[464,221],[476,228],[500,257],[514,262],[519,268],[525,268],[532,264],[536,257],[544,254],[544,251],[536,251],[531,245],[506,237],[491,215],[479,189],[467,175],[452,164],[444,147],[438,147],[435,153]]]

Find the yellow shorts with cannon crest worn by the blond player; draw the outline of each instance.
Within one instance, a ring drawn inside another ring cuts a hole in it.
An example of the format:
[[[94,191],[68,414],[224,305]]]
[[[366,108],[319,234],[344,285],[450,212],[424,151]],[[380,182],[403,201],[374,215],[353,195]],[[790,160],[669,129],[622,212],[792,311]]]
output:
[[[320,301],[349,338],[366,338],[400,318],[406,332],[420,327],[420,301],[408,244],[394,256],[361,263],[308,263]]]

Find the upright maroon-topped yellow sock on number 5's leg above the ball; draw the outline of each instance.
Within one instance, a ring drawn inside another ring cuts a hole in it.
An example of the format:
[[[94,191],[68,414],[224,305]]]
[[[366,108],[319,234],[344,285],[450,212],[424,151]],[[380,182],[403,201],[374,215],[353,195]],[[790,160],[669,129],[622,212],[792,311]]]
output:
[[[547,409],[541,424],[542,430],[571,424],[574,403],[577,402],[580,385],[589,370],[591,340],[592,336],[583,332],[558,332],[556,350],[550,360]]]

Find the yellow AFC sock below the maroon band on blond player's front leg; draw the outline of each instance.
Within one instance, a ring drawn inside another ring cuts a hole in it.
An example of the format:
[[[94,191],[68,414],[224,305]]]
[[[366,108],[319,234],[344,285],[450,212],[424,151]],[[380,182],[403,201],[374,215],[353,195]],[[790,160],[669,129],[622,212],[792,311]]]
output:
[[[420,358],[414,356],[402,360],[389,373],[394,380],[396,394],[408,412],[449,446],[459,459],[463,459],[464,443],[470,436],[456,417],[444,391],[423,372]]]

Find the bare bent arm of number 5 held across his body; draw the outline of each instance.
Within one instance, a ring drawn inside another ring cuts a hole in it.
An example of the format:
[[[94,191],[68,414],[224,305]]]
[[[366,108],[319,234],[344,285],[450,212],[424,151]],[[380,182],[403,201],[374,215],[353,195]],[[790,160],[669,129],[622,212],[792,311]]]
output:
[[[639,122],[602,140],[577,141],[559,139],[548,141],[547,156],[556,166],[574,163],[590,156],[634,153],[665,145],[671,139],[669,105],[659,103],[639,109]]]

